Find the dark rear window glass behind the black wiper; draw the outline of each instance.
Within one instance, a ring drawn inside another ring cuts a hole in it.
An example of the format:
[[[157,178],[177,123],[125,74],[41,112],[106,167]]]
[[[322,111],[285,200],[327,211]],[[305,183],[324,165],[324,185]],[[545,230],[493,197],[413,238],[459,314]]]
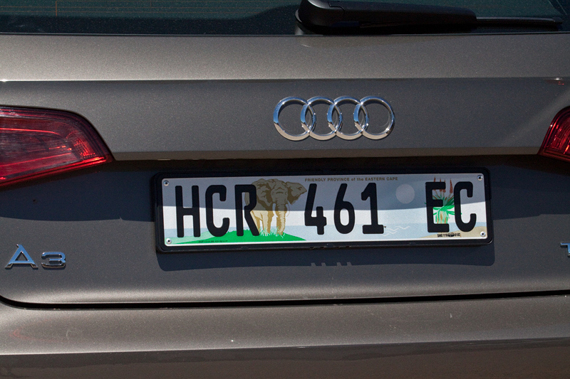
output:
[[[0,0],[0,33],[292,35],[300,0]],[[459,6],[477,17],[556,17],[568,31],[570,0],[391,0]],[[497,32],[540,31],[497,27]],[[492,32],[485,28],[484,32]]]

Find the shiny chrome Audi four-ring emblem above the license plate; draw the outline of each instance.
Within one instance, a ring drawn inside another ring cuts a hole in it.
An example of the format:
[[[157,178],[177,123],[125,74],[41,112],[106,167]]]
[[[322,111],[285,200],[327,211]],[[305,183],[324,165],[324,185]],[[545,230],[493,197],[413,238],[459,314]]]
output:
[[[356,127],[356,132],[354,133],[343,133],[343,114],[341,112],[340,106],[343,104],[354,104],[354,126]],[[368,127],[370,126],[370,118],[368,117],[368,110],[366,109],[366,105],[368,104],[380,104],[388,110],[389,117],[388,122],[385,124],[385,129],[383,132],[378,134],[368,132]],[[301,105],[301,127],[303,128],[303,132],[300,134],[291,134],[286,132],[281,124],[279,123],[279,114],[281,114],[281,110],[284,110],[285,107],[289,105]],[[330,132],[326,134],[318,134],[315,132],[316,126],[316,112],[313,108],[313,105],[317,104],[328,104],[328,112],[326,112],[326,121],[328,122],[328,127],[331,129]],[[311,123],[307,122],[307,112],[311,114]],[[333,114],[336,112],[338,117],[336,121],[333,120]],[[360,113],[363,112],[364,117],[363,121],[360,120]],[[307,137],[312,137],[314,139],[318,139],[319,141],[326,141],[327,139],[331,139],[335,136],[338,136],[342,139],[357,139],[358,137],[364,136],[369,139],[383,139],[388,137],[388,134],[392,132],[394,127],[394,111],[390,104],[386,102],[384,99],[380,97],[374,96],[367,96],[363,97],[361,100],[358,100],[356,97],[351,96],[341,96],[337,97],[335,100],[331,100],[328,97],[311,97],[309,100],[301,99],[301,97],[286,97],[277,104],[275,110],[273,112],[273,122],[275,124],[275,129],[277,132],[281,134],[286,139],[290,139],[291,141],[301,141],[306,139]]]

